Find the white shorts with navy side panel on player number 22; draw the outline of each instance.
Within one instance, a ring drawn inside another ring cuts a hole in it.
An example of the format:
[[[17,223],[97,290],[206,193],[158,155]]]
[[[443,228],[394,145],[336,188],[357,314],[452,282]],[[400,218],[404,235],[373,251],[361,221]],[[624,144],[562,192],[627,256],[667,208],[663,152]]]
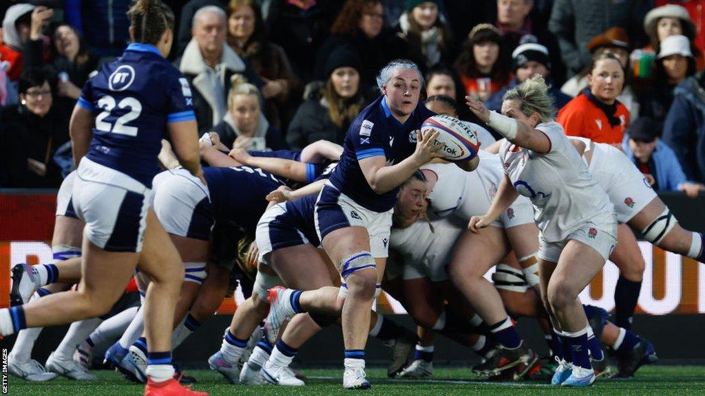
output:
[[[152,190],[85,157],[76,173],[72,201],[85,236],[109,252],[140,252]]]

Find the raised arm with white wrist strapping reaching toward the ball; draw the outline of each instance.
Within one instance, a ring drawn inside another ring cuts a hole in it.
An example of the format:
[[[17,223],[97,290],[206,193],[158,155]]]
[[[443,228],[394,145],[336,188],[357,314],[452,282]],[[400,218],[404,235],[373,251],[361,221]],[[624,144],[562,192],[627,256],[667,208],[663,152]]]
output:
[[[496,111],[489,111],[482,101],[472,97],[465,97],[465,99],[470,111],[510,142],[539,154],[548,154],[548,151],[551,151],[551,140],[548,139],[544,132],[508,117],[512,116],[511,113],[508,113],[508,116],[503,116]]]

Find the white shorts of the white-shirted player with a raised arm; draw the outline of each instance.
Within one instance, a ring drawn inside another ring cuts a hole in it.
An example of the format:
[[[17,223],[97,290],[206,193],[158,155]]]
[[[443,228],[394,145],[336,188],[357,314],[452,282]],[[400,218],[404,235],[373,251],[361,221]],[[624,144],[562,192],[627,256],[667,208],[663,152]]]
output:
[[[558,242],[546,242],[543,235],[539,234],[539,259],[558,263],[560,252],[563,252],[569,240],[583,242],[595,249],[607,261],[617,244],[617,223],[596,225],[587,222],[570,233],[565,240]]]

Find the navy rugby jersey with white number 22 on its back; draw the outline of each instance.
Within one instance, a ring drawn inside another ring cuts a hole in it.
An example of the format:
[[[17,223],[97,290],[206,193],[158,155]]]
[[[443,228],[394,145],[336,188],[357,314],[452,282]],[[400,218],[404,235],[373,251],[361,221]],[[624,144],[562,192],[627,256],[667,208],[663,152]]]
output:
[[[95,115],[87,157],[148,188],[159,173],[167,125],[196,119],[188,81],[157,47],[142,43],[130,44],[88,80],[78,106]]]

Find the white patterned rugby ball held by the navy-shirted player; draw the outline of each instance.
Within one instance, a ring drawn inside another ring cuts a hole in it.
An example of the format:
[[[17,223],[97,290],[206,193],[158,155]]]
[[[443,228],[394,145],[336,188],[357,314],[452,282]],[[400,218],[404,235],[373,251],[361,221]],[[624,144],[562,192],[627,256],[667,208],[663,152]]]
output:
[[[421,124],[421,134],[439,132],[434,145],[446,144],[443,147],[443,159],[447,161],[467,161],[477,156],[480,144],[477,134],[458,118],[439,115],[427,118]]]

